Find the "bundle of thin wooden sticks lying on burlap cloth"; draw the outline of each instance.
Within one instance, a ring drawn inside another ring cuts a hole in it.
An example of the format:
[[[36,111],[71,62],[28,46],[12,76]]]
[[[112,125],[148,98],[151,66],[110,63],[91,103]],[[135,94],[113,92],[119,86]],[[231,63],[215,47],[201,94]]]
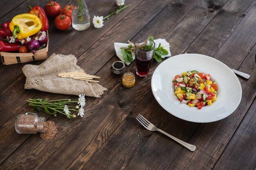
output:
[[[74,71],[74,72],[65,72],[65,73],[59,73],[58,77],[64,77],[64,78],[74,78],[76,80],[85,80],[90,82],[96,82],[99,83],[99,81],[93,80],[93,78],[100,78],[98,76],[86,74],[85,71]]]

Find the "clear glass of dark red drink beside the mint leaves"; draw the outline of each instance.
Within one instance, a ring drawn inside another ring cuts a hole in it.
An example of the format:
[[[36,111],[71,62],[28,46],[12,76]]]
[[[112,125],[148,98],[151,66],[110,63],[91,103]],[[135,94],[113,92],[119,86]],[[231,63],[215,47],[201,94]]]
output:
[[[150,63],[153,60],[155,43],[151,39],[135,41],[136,74],[146,77],[150,72]]]

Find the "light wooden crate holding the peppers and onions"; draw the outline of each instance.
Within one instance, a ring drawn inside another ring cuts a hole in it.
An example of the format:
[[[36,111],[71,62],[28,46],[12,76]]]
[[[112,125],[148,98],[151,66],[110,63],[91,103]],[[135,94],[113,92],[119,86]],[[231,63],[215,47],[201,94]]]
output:
[[[2,63],[4,65],[16,64],[16,63],[26,63],[29,61],[38,61],[47,59],[49,36],[47,32],[47,46],[41,50],[37,50],[36,54],[32,52],[27,53],[14,53],[14,52],[0,52]]]

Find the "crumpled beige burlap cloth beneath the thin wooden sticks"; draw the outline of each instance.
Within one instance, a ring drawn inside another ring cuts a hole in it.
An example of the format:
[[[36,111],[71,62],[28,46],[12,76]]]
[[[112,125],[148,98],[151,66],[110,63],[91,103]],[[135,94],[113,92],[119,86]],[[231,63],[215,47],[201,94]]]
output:
[[[52,54],[40,65],[25,65],[22,68],[27,77],[25,89],[38,89],[58,94],[85,94],[99,98],[107,89],[98,83],[57,76],[60,72],[83,70],[76,65],[76,62],[74,55]]]

